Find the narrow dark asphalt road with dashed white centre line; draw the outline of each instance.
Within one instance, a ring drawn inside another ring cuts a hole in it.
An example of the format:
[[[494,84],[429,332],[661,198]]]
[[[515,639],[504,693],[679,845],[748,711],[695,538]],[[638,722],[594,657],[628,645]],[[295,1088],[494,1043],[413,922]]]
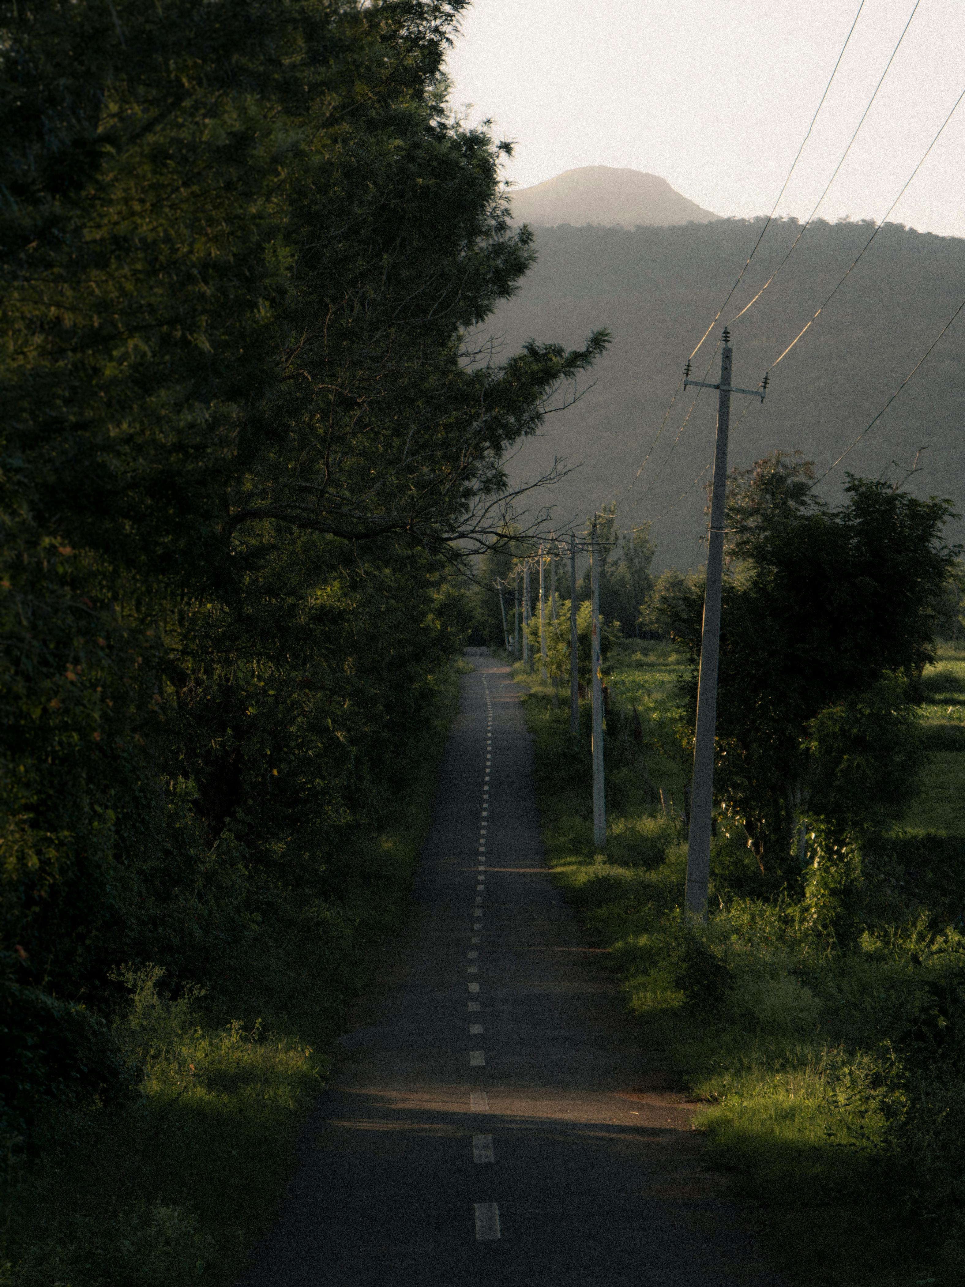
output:
[[[542,857],[471,656],[407,931],[340,1041],[244,1287],[777,1287]]]

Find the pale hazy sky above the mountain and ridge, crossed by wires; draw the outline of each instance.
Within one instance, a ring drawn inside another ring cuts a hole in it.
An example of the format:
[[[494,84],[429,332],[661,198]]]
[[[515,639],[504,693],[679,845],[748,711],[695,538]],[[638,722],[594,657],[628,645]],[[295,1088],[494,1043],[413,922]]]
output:
[[[519,187],[585,165],[661,175],[719,215],[767,214],[859,0],[475,0],[453,106],[515,142]],[[914,0],[866,0],[777,214],[805,218]],[[920,0],[818,218],[880,219],[965,88],[965,0]],[[890,220],[965,237],[965,100]]]

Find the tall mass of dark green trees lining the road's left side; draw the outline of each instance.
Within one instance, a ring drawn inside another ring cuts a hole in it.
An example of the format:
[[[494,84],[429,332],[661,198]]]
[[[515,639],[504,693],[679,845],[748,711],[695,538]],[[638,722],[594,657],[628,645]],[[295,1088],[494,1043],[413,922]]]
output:
[[[21,1136],[130,1085],[124,968],[295,1024],[338,994],[364,838],[467,624],[446,560],[501,530],[504,449],[605,344],[470,349],[531,250],[502,144],[445,104],[462,8],[3,5]]]

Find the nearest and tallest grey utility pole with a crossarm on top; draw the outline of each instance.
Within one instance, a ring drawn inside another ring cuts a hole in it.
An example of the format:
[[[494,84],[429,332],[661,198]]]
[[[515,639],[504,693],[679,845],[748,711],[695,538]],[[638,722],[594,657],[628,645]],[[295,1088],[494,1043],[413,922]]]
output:
[[[706,894],[710,884],[710,830],[714,807],[714,739],[717,735],[717,664],[721,654],[721,588],[723,584],[724,502],[727,499],[727,435],[731,423],[731,394],[749,394],[764,400],[768,377],[759,389],[731,385],[733,349],[724,327],[721,350],[721,382],[705,384],[690,378],[690,362],[683,387],[717,389],[717,443],[714,445],[714,485],[710,495],[710,534],[708,538],[704,625],[700,634],[700,677],[697,680],[697,726],[694,732],[694,785],[690,797],[687,835],[687,911],[706,920]]]

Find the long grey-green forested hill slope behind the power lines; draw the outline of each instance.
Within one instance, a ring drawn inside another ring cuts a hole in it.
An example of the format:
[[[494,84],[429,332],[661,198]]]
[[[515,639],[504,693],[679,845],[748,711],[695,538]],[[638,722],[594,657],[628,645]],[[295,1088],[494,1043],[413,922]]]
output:
[[[697,378],[704,378],[724,322],[773,272],[799,227],[782,220],[768,229],[731,305],[695,359]],[[555,456],[579,466],[548,493],[560,530],[574,516],[582,520],[594,506],[619,499],[629,486],[687,355],[733,284],[760,228],[760,220],[728,219],[633,230],[538,229],[539,261],[489,328],[507,351],[531,335],[575,342],[591,327],[607,326],[614,336],[596,368],[596,385],[576,407],[551,416],[542,436],[526,443],[512,462],[515,474],[525,477],[535,476]],[[804,233],[773,284],[732,324],[735,384],[757,386],[831,292],[872,228],[868,223],[817,223]],[[884,405],[964,296],[965,239],[921,234],[901,224],[883,228],[834,300],[775,367],[764,404],[753,403],[741,420],[748,399],[735,399],[732,463],[749,465],[773,448],[798,449],[822,471]],[[838,493],[845,468],[878,476],[898,461],[905,472],[917,448],[928,445],[910,490],[951,497],[965,510],[964,344],[965,315],[823,484],[829,497]],[[692,483],[713,454],[715,394],[700,396],[670,452],[691,398],[691,390],[678,395],[620,510],[620,526],[654,520],[656,568],[687,566],[705,525],[703,484],[709,471],[700,484]],[[897,472],[892,466],[892,476]]]

